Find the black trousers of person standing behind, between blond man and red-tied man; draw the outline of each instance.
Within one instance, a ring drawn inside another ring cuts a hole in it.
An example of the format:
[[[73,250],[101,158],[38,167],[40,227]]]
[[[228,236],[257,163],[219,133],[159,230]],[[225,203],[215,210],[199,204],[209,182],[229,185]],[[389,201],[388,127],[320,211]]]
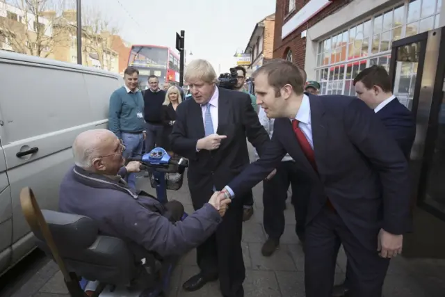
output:
[[[264,230],[270,239],[280,239],[284,232],[284,204],[287,191],[292,187],[293,209],[296,218],[296,233],[300,240],[305,236],[305,220],[307,214],[306,197],[298,197],[298,175],[294,161],[284,161],[277,167],[274,177],[263,182],[263,223]]]

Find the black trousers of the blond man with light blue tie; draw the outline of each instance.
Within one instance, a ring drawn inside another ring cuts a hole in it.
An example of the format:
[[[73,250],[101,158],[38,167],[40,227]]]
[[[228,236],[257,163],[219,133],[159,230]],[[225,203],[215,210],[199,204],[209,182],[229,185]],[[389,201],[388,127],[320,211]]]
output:
[[[196,249],[197,265],[209,278],[218,277],[225,297],[243,297],[245,267],[241,237],[243,235],[243,198],[229,204],[216,232]]]

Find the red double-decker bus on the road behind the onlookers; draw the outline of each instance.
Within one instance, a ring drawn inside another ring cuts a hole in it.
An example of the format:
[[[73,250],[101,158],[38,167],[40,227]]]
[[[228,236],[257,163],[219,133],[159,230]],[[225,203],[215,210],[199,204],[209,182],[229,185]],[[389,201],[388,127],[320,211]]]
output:
[[[148,77],[156,75],[159,84],[179,85],[179,56],[169,47],[132,45],[128,65],[139,70],[140,88],[148,88]]]

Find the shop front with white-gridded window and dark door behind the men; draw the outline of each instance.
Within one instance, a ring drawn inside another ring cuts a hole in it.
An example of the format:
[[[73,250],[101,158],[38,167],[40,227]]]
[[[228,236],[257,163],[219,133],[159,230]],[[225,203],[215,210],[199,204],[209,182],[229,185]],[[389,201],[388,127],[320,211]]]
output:
[[[360,0],[307,29],[305,70],[321,83],[322,95],[355,95],[354,77],[382,65],[393,92],[416,118],[412,148],[414,232],[405,235],[406,257],[445,258],[445,29],[439,22],[442,0],[381,1],[357,19]],[[355,5],[354,5],[355,3]],[[352,6],[352,7],[351,7]],[[337,29],[334,19],[348,18]],[[344,18],[343,18],[344,17]],[[312,40],[311,40],[312,38]]]

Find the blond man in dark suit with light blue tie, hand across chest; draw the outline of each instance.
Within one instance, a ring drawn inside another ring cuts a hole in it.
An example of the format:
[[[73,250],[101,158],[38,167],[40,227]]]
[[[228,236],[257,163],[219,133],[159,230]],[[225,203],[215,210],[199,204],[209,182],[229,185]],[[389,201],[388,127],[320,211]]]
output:
[[[223,189],[248,166],[246,135],[260,156],[270,140],[250,96],[218,88],[216,72],[209,62],[192,61],[184,77],[193,100],[177,107],[170,140],[173,152],[189,160],[188,188],[193,207],[200,209],[209,194]],[[251,189],[243,195],[252,195]],[[195,291],[219,278],[223,296],[244,296],[243,195],[232,202],[215,234],[197,248],[200,273],[184,282],[186,291]]]

